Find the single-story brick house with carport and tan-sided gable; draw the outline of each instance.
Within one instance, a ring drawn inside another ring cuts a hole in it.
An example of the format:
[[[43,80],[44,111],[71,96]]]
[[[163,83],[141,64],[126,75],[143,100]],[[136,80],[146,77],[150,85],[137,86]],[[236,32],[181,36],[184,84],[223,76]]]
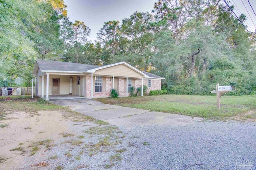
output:
[[[120,97],[128,96],[131,86],[148,86],[148,90],[161,90],[160,76],[140,71],[126,62],[96,66],[60,61],[37,60],[36,95],[72,94],[87,98],[104,98],[115,88]],[[142,90],[143,91],[143,90]],[[143,92],[142,92],[143,96]]]

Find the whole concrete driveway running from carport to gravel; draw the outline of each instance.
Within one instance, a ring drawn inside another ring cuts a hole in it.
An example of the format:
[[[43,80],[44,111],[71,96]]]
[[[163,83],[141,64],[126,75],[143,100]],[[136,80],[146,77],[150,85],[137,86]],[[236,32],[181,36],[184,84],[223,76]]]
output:
[[[194,124],[190,116],[103,104],[88,98],[50,100],[50,102],[60,106],[69,106],[72,110],[78,111],[84,115],[106,121],[112,125],[124,127],[134,127],[136,125]]]

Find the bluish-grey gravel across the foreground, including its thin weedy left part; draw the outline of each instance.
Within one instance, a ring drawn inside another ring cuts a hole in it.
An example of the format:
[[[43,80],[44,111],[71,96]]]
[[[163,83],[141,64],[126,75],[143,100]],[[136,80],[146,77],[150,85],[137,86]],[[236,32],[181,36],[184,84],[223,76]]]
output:
[[[79,122],[78,122],[79,123]],[[85,144],[97,143],[108,135],[90,135],[83,131],[95,126],[71,126],[74,137],[54,141],[51,150],[40,149],[29,156],[19,169],[92,169],[102,170],[256,170],[256,123],[197,122],[185,126],[136,126],[131,129],[119,127],[115,132],[122,141],[117,145],[101,146],[97,154],[90,156]],[[78,140],[83,144],[72,146],[65,141]],[[125,137],[124,137],[125,135]],[[104,150],[107,149],[107,150]],[[126,149],[117,160],[111,156],[116,150]],[[70,152],[72,156],[65,154]],[[80,152],[80,160],[76,159]],[[52,156],[57,159],[48,159]],[[46,163],[46,167],[36,164]]]

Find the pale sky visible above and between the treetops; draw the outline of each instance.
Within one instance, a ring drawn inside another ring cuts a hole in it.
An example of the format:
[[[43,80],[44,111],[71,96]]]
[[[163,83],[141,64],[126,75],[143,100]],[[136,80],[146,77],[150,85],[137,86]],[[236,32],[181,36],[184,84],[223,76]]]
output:
[[[94,42],[97,33],[103,27],[104,22],[118,20],[122,23],[124,18],[128,18],[135,11],[150,12],[154,8],[157,0],[64,0],[68,6],[68,17],[70,21],[84,21],[91,29],[88,40]],[[249,0],[256,13],[255,0]],[[248,12],[246,11],[246,6]],[[256,29],[256,16],[248,4],[248,0],[230,0],[229,5],[235,4],[234,12],[240,16],[241,13],[248,17],[246,25],[250,31]],[[239,9],[239,10],[238,10]],[[250,14],[250,17],[249,17]]]

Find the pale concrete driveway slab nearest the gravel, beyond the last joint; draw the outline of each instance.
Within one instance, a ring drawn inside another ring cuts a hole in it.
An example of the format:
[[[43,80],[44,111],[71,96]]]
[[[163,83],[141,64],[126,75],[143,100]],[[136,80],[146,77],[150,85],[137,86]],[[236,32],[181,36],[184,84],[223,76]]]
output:
[[[110,124],[124,127],[134,127],[137,125],[190,125],[194,124],[192,117],[172,113],[162,113],[149,111],[141,114],[105,119]]]

